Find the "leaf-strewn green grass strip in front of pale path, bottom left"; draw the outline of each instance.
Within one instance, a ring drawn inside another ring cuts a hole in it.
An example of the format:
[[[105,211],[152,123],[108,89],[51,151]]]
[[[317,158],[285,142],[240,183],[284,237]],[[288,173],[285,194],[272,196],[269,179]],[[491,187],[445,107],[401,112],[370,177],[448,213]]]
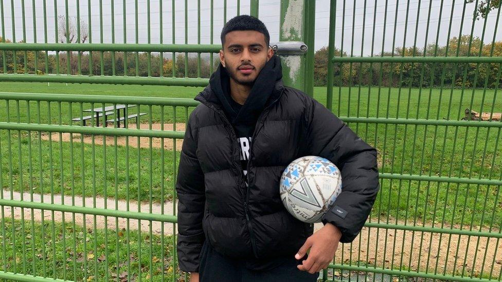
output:
[[[6,219],[0,229],[2,271],[75,281],[142,281],[150,277],[172,281],[174,275],[182,275],[174,264],[172,236],[83,229],[50,219],[44,224]]]

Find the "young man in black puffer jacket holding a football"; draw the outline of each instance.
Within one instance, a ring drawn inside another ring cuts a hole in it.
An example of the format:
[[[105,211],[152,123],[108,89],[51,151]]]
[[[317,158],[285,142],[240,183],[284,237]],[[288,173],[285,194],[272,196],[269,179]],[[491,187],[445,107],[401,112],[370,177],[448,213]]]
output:
[[[361,231],[379,189],[375,149],[282,84],[269,41],[257,18],[232,18],[221,64],[195,98],[176,183],[178,261],[191,281],[316,281],[338,242]],[[279,196],[284,168],[309,155],[332,161],[343,179],[314,234]]]

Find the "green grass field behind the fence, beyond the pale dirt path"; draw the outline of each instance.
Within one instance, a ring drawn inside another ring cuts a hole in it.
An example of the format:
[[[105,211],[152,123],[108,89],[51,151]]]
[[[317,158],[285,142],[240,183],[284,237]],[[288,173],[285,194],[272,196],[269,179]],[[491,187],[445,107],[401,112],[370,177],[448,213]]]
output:
[[[0,91],[5,92],[172,98],[193,98],[202,89],[137,85],[66,86],[51,83],[47,86],[46,83],[0,83]],[[316,87],[314,97],[325,103],[326,88]],[[484,111],[490,111],[493,107],[494,111],[500,112],[502,98],[496,95],[494,90],[422,89],[420,91],[415,88],[376,87],[371,89],[335,87],[333,95],[334,112],[342,117],[388,116],[458,120],[459,117],[463,117],[465,108],[480,111],[481,105]],[[5,101],[0,101],[0,107],[7,107]],[[16,107],[16,103],[10,101],[9,112],[0,111],[0,121],[6,121],[7,118],[10,121],[17,121]],[[42,123],[65,124],[70,120],[67,103],[62,105],[61,120],[60,110],[55,103],[50,105],[50,121],[47,103],[40,103],[40,107]],[[83,104],[82,107],[88,108],[91,105]],[[73,117],[78,116],[80,105],[74,103],[71,108]],[[28,112],[26,102],[19,104],[19,110],[19,120],[26,122]],[[149,112],[150,108],[141,106],[141,111],[144,110]],[[191,110],[190,108],[188,113]],[[174,121],[171,107],[166,107],[164,114],[164,117],[161,117],[160,107],[153,106],[149,118],[154,123],[160,120]],[[186,114],[183,108],[178,108],[176,114],[176,122],[185,122]],[[30,121],[37,122],[38,118],[37,106],[30,103]],[[500,139],[499,128],[364,123],[349,124],[349,126],[379,150],[379,168],[383,173],[482,179],[500,179],[502,174],[502,150],[497,142]],[[6,130],[2,130],[0,136],[3,185],[8,189],[26,191],[32,188],[37,193],[48,193],[53,189],[55,193],[87,196],[95,194],[114,197],[117,194],[117,197],[122,199],[129,196],[131,199],[142,201],[159,201],[164,183],[166,198],[172,197],[175,173],[173,158],[176,155],[177,162],[179,153],[164,150],[163,177],[160,173],[162,150],[157,148],[138,150],[123,146],[115,147],[107,143],[104,149],[101,145],[82,144],[78,140],[73,144],[39,141],[37,133],[31,133],[31,138],[28,138],[28,133],[23,131],[19,135],[16,131],[8,134]],[[30,156],[27,152],[30,152],[30,147],[31,161],[28,161]],[[116,158],[115,152],[117,152]],[[52,163],[49,162],[50,156]],[[66,161],[68,159],[75,160],[73,169],[76,173],[71,173],[71,167]],[[12,160],[12,163],[8,163],[9,160]],[[42,181],[39,175],[42,175]],[[502,220],[502,202],[498,197],[496,186],[387,179],[382,179],[381,184],[379,199],[372,213],[374,217],[408,221],[415,219],[444,221],[449,224],[463,223],[484,227],[492,224],[494,227],[499,227]]]

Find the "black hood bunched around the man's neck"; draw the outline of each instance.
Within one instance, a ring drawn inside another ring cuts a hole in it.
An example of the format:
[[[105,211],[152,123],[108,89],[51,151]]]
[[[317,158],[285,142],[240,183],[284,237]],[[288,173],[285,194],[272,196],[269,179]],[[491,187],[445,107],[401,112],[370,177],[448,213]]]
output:
[[[282,93],[282,66],[277,55],[273,55],[258,74],[249,96],[239,112],[230,104],[230,77],[220,64],[209,79],[209,85],[195,97],[195,100],[221,108],[232,124],[253,123],[263,109],[273,103]],[[209,105],[208,105],[209,106]]]

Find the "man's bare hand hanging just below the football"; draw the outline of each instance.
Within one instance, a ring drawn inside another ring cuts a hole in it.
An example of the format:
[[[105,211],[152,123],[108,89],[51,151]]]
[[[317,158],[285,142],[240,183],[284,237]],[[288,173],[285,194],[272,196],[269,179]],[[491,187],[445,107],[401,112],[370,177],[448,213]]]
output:
[[[295,255],[296,259],[301,259],[310,249],[309,257],[297,266],[298,269],[314,274],[327,268],[335,255],[340,238],[342,238],[342,232],[335,225],[326,223],[324,227],[307,238]]]

